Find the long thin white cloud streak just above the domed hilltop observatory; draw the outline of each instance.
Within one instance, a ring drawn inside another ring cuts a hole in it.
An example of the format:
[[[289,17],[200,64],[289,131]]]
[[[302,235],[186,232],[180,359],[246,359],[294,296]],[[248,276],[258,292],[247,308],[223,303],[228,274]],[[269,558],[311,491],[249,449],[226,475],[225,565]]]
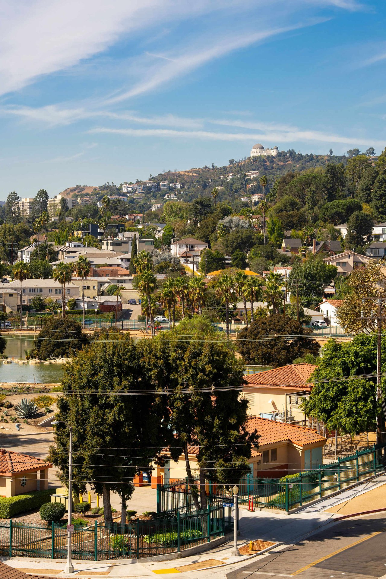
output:
[[[323,142],[340,143],[345,145],[366,145],[384,146],[384,141],[368,140],[363,137],[345,137],[335,134],[321,133],[320,131],[266,131],[265,133],[220,133],[216,131],[177,131],[172,129],[110,129],[99,127],[91,129],[90,134],[105,133],[116,134],[124,137],[168,137],[168,138],[193,138],[206,141],[245,141],[265,140],[273,143],[284,142]]]

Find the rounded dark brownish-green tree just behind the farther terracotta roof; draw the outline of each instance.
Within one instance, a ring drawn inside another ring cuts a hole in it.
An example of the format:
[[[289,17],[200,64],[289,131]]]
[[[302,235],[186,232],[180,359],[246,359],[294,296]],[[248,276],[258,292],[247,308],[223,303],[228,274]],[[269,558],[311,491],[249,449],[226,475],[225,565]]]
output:
[[[306,354],[317,356],[319,344],[310,333],[288,316],[270,314],[238,332],[236,349],[247,364],[278,367]]]

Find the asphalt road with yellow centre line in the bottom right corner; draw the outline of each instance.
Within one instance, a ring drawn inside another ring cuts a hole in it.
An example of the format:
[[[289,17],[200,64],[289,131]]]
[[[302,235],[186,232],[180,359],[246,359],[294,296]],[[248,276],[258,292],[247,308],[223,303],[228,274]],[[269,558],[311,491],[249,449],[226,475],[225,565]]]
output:
[[[285,550],[271,551],[227,579],[386,578],[386,514],[347,519]]]

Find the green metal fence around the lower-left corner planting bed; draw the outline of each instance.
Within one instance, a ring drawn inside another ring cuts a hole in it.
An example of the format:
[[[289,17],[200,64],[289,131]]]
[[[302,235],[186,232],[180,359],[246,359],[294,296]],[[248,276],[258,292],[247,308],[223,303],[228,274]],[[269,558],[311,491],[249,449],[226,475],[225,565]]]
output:
[[[72,557],[84,560],[142,559],[178,553],[223,537],[233,529],[229,507],[209,507],[190,514],[169,514],[126,525],[95,521],[75,526],[71,536]],[[63,523],[0,522],[0,556],[65,559],[67,525]]]

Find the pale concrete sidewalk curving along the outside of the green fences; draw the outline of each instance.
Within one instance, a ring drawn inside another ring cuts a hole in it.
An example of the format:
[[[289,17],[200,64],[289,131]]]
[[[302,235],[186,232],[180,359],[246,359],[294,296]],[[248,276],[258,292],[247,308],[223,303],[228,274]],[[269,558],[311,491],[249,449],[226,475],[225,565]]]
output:
[[[317,532],[321,527],[333,524],[334,519],[343,514],[343,508],[360,498],[361,509],[371,510],[374,508],[374,492],[380,492],[381,485],[386,483],[386,474],[381,475],[372,481],[361,483],[352,489],[345,490],[339,495],[329,497],[317,504],[310,505],[293,515],[274,511],[249,512],[240,510],[240,531],[238,546],[248,543],[250,540],[263,539],[280,544],[280,547],[273,547],[275,551],[281,550],[293,543],[296,543],[306,535]],[[333,510],[333,512],[330,512]],[[82,579],[94,579],[97,577],[108,579],[123,579],[128,577],[141,577],[143,579],[161,576],[171,577],[176,573],[183,573],[186,579],[197,579],[197,577],[208,577],[211,579],[225,579],[227,573],[237,569],[245,560],[251,556],[235,557],[231,554],[233,548],[232,541],[210,551],[198,555],[192,555],[183,559],[170,559],[163,562],[141,562],[129,563],[124,559],[117,559],[105,562],[75,561],[75,573],[71,577],[82,577]],[[264,557],[265,555],[258,555]],[[53,559],[30,559],[14,558],[3,559],[3,561],[25,573],[37,574],[42,577],[69,577],[63,573],[64,560]],[[211,568],[210,571],[199,571],[200,569]]]

